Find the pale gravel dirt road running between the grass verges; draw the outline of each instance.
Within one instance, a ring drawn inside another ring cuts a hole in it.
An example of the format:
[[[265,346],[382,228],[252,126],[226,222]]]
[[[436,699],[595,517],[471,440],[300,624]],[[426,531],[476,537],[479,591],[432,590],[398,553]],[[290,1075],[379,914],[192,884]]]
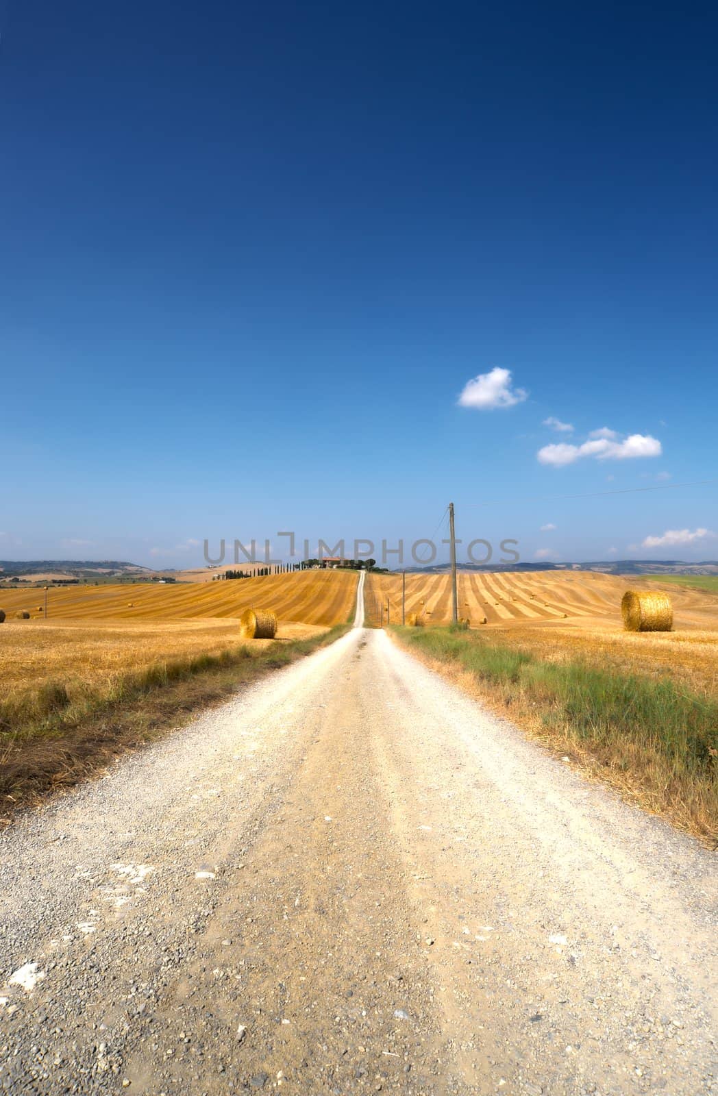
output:
[[[380,631],[26,814],[0,884],[15,1096],[713,1091],[715,857]]]

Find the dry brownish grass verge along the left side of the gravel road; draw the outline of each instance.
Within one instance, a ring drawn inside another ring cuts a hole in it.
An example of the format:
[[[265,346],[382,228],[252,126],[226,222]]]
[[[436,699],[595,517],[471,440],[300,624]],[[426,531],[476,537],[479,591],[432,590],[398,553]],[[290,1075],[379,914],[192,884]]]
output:
[[[332,643],[349,627],[259,650],[238,646],[153,663],[105,687],[44,682],[21,700],[0,701],[0,821],[187,722],[239,685]]]

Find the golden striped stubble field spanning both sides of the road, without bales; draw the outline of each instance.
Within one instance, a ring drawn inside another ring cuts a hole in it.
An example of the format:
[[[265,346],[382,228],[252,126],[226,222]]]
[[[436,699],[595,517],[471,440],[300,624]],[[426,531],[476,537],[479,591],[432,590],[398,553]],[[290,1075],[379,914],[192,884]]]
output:
[[[408,574],[407,614],[426,626],[451,620],[446,574]],[[631,635],[623,630],[620,597],[628,586],[656,589],[652,580],[592,572],[459,573],[459,615],[470,626],[500,633],[542,658],[586,655],[617,669],[665,672],[704,689],[716,688],[718,596],[670,587],[674,630]],[[128,670],[157,662],[217,654],[239,643],[242,610],[273,609],[280,640],[305,639],[343,624],[352,612],[355,572],[300,571],[227,582],[76,586],[48,592],[3,590],[0,608],[0,680],[3,694],[36,688],[46,680],[106,684]],[[367,594],[390,605],[400,621],[401,576],[367,575]],[[30,620],[14,614],[26,610]],[[255,644],[267,641],[259,640]]]

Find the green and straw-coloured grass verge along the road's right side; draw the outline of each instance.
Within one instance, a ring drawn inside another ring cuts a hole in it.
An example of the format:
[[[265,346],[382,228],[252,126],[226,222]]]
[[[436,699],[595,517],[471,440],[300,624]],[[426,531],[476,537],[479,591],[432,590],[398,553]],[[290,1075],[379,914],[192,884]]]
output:
[[[453,667],[548,746],[570,753],[643,808],[718,842],[718,700],[666,678],[551,662],[451,628],[396,628],[436,669]]]

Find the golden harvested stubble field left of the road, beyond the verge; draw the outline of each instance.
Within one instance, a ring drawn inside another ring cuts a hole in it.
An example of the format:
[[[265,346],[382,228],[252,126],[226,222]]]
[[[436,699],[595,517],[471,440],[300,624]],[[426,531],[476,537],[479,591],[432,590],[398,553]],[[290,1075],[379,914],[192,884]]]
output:
[[[306,639],[347,620],[356,582],[355,572],[296,571],[206,584],[73,586],[47,592],[47,620],[44,590],[3,590],[2,699],[46,681],[109,688],[127,672],[236,648],[246,642],[239,616],[250,606],[276,613],[280,641]],[[14,619],[21,609],[30,620]]]

